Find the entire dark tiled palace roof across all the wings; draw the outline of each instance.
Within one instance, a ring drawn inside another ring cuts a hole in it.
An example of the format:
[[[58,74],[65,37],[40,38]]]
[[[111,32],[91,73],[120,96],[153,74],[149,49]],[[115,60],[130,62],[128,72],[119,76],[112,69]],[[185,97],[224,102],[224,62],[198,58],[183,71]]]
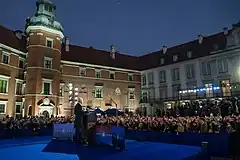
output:
[[[22,52],[27,52],[25,36],[22,36],[22,39],[18,39],[15,36],[14,31],[9,30],[1,25],[0,35],[0,43]],[[204,37],[201,44],[198,43],[198,40],[193,40],[168,48],[165,54],[163,54],[162,50],[140,57],[116,53],[115,59],[111,58],[109,51],[98,50],[92,47],[87,48],[70,45],[69,52],[66,52],[63,44],[62,60],[131,70],[147,70],[181,61],[204,57],[209,55],[209,53],[212,51],[221,50],[225,47],[226,36],[223,32]],[[187,57],[187,52],[189,51],[192,52],[191,58]],[[178,55],[178,60],[176,62],[173,61],[174,55]],[[160,63],[161,58],[164,59],[163,65]]]

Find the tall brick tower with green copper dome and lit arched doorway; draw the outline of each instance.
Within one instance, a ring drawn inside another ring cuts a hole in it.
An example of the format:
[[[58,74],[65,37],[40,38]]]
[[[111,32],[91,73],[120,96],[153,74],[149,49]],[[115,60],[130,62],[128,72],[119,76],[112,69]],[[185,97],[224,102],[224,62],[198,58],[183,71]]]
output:
[[[63,27],[56,21],[56,6],[50,0],[38,0],[36,6],[35,15],[27,18],[25,26],[28,53],[24,110],[25,115],[56,115]],[[43,103],[46,98],[48,105]]]

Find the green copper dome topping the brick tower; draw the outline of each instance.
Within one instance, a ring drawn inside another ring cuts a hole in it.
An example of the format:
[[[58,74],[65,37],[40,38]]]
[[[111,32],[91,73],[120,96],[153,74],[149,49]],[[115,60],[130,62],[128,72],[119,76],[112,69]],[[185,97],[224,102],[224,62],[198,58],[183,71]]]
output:
[[[29,26],[45,26],[63,32],[62,25],[56,21],[56,6],[50,0],[38,0],[35,16],[27,18],[25,28]]]

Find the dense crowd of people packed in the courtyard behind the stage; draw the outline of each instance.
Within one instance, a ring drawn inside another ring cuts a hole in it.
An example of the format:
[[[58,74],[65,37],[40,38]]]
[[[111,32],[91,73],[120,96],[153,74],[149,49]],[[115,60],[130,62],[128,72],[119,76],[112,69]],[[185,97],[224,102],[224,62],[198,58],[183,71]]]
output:
[[[121,125],[131,130],[159,132],[233,132],[239,130],[240,125],[238,106],[235,99],[185,103],[180,107],[168,108],[155,116],[136,113],[117,117],[102,115],[98,118],[97,125]],[[51,129],[54,123],[73,122],[74,117],[6,117],[0,120],[0,132]]]

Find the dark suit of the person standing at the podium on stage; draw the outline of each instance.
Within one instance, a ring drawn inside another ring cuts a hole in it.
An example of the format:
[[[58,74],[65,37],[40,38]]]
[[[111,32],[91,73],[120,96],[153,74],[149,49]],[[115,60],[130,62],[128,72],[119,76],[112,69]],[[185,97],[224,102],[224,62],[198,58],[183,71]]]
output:
[[[75,122],[74,126],[76,129],[76,140],[81,141],[85,137],[85,128],[84,128],[84,123],[83,123],[83,115],[84,112],[82,110],[82,105],[77,103],[75,108],[74,108],[74,114],[75,114]]]

